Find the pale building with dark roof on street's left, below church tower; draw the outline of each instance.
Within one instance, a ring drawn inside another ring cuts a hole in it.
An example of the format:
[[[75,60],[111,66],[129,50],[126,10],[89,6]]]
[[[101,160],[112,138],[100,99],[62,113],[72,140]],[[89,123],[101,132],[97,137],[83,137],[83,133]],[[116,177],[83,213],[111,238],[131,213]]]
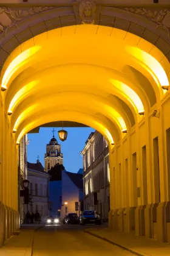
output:
[[[49,215],[49,174],[39,160],[36,163],[27,163],[27,178],[29,191],[32,194],[32,204],[28,205],[29,212],[38,213],[43,221]]]

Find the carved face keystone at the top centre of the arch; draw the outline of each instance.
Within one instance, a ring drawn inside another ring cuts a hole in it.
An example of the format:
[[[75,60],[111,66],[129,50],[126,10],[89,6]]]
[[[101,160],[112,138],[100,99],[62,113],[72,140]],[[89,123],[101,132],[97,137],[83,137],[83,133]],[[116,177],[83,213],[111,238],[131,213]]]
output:
[[[96,3],[94,1],[81,1],[79,4],[79,12],[83,24],[94,24]]]

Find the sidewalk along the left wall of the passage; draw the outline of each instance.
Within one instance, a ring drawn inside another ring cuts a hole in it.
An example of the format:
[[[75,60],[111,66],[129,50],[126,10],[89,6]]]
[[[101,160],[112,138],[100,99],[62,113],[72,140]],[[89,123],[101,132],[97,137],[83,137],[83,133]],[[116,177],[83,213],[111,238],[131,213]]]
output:
[[[0,248],[0,256],[31,256],[34,233],[43,226],[21,225],[19,235],[12,236],[5,246]]]

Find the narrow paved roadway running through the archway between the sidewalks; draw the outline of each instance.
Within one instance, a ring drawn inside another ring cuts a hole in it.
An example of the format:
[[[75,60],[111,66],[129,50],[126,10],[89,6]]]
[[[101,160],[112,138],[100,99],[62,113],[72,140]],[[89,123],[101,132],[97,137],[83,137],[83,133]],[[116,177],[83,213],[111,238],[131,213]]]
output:
[[[132,255],[120,247],[84,233],[84,229],[94,226],[58,225],[45,226],[35,232],[33,256],[81,255],[113,256]]]

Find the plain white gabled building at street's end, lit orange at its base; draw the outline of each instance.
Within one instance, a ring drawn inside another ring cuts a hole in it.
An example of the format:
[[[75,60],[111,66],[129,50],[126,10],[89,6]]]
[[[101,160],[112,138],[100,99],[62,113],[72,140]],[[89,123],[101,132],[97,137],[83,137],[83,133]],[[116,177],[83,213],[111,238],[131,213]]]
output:
[[[80,215],[80,202],[83,200],[83,175],[78,173],[62,171],[62,206],[61,219],[67,213],[77,212]],[[75,210],[75,202],[78,202],[78,211]],[[65,204],[66,203],[66,204]]]

